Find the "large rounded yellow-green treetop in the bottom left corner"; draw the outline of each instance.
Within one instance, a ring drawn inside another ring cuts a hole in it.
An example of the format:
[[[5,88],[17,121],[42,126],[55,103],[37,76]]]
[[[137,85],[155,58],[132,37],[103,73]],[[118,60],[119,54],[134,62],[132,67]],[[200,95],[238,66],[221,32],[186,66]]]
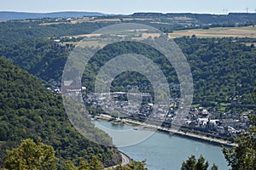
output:
[[[55,150],[52,146],[25,139],[18,148],[7,150],[4,165],[8,169],[55,169]]]

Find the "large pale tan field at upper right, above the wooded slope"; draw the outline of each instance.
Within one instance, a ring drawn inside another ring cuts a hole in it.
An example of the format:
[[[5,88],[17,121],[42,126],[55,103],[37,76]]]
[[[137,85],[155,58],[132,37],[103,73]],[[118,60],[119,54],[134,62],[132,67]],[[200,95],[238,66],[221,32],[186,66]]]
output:
[[[195,35],[197,37],[253,37],[256,38],[256,27],[217,27],[208,30],[204,29],[193,29],[185,31],[173,31],[169,34],[169,37],[183,37]]]

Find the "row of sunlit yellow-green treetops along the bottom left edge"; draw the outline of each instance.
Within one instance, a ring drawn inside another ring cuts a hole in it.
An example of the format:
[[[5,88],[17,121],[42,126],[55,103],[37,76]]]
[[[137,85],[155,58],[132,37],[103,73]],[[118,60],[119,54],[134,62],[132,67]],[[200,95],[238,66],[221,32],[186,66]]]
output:
[[[89,161],[79,157],[79,163],[76,166],[73,161],[67,160],[63,169],[65,170],[103,170],[101,155],[92,155]],[[5,156],[5,168],[12,170],[32,169],[46,170],[56,169],[57,158],[52,146],[44,144],[41,141],[34,143],[32,139],[25,139],[18,148],[7,150]],[[109,170],[147,170],[145,161],[133,161],[127,166],[118,165],[109,167]]]

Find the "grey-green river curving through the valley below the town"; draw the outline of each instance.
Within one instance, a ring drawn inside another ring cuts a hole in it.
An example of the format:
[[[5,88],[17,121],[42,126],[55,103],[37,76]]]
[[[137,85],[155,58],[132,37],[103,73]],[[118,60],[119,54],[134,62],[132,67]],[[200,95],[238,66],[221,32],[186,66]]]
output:
[[[113,125],[111,122],[96,121],[95,124],[96,127],[106,131],[113,138],[113,144],[118,146],[130,137],[119,137],[115,133],[111,133],[112,131],[132,130],[135,135],[152,133],[143,129],[134,130],[133,127],[127,125]],[[229,169],[221,147],[166,133],[153,133],[152,136],[141,143],[118,147],[118,149],[134,160],[142,161],[146,159],[146,167],[149,170],[180,169],[182,162],[191,155],[195,155],[196,158],[201,155],[204,156],[210,167],[215,163],[219,170]]]

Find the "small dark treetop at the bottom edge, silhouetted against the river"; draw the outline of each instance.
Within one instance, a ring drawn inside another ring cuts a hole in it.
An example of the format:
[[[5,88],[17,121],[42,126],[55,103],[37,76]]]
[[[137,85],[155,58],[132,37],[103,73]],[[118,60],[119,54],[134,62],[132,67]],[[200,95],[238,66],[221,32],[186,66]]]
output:
[[[195,156],[190,156],[187,161],[183,161],[181,170],[207,170],[209,167],[208,161],[203,156],[200,156],[196,161]],[[213,164],[212,170],[218,170],[218,166]]]

